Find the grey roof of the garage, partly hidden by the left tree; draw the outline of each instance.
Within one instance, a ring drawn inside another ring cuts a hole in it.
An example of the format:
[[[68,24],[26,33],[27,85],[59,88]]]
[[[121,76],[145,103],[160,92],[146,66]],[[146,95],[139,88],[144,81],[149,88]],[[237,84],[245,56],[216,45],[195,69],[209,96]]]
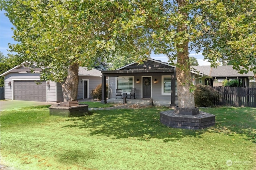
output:
[[[30,67],[25,66],[26,63],[29,63]],[[10,72],[30,72],[30,68],[31,67],[34,68],[34,70],[36,72],[40,72],[40,71],[42,71],[42,69],[44,69],[44,68],[38,68],[36,64],[31,64],[30,62],[25,61],[25,62],[21,63],[20,65],[15,66],[14,68],[4,72],[0,76],[5,76],[6,74],[8,74]],[[94,68],[92,68],[92,70],[87,70],[86,67],[81,67],[80,66],[78,69],[79,69],[78,70],[78,75],[79,76],[94,76],[94,77],[102,76],[101,71],[100,70],[96,70]]]

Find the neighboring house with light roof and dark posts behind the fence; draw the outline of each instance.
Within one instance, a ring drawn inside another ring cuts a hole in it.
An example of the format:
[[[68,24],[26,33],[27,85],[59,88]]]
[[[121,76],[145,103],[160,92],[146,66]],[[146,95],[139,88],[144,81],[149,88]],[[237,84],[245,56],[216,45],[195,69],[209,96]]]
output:
[[[252,71],[248,73],[240,74],[238,71],[233,69],[233,66],[218,66],[217,68],[212,68],[211,66],[192,66],[194,71],[201,72],[208,76],[211,76],[211,82],[207,78],[201,78],[202,84],[208,84],[213,86],[214,79],[240,79],[242,80],[242,87],[249,87],[250,78],[254,77]],[[199,83],[198,81],[196,84]]]

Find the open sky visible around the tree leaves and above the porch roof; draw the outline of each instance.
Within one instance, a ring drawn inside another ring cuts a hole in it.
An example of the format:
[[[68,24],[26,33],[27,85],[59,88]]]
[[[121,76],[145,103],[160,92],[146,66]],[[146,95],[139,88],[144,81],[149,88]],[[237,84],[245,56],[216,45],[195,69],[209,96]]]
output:
[[[13,31],[11,29],[11,27],[14,27],[12,25],[12,23],[10,23],[8,17],[6,17],[4,15],[5,11],[0,11],[0,51],[7,56],[8,52],[7,50],[8,48],[8,43],[11,44],[15,44],[17,43],[16,41],[14,41],[14,39],[12,38],[13,36]],[[204,56],[202,55],[202,53],[190,53],[190,56],[196,57],[198,63],[200,66],[202,65],[210,65],[209,62],[204,61]],[[163,62],[167,62],[168,59],[166,56],[164,55],[151,55],[152,59],[156,59],[156,60],[160,60]]]

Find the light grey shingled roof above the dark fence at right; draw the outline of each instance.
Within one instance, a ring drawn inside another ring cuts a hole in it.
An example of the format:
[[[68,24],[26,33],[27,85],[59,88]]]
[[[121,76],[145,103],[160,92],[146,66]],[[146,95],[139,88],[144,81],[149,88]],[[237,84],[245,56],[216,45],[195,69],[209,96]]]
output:
[[[248,73],[240,74],[237,70],[234,70],[233,66],[218,66],[217,68],[213,68],[211,66],[192,66],[196,71],[203,72],[208,76],[212,76],[213,78],[237,78],[237,77],[253,77],[254,74],[252,71],[248,71]]]

